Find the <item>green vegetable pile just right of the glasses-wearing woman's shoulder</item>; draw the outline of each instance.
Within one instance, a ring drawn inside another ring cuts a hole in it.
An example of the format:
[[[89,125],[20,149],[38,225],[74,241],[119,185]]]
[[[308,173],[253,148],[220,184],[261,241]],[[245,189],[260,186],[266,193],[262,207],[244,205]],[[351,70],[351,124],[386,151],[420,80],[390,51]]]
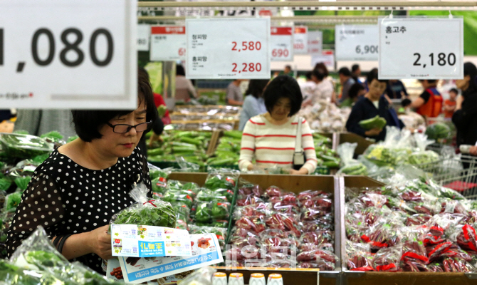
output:
[[[151,134],[147,133],[147,136]],[[174,165],[176,157],[184,157],[187,162],[204,167],[211,136],[212,133],[206,131],[168,131],[161,136],[162,142],[153,142],[149,147],[147,160],[154,164],[173,162],[171,165]]]

